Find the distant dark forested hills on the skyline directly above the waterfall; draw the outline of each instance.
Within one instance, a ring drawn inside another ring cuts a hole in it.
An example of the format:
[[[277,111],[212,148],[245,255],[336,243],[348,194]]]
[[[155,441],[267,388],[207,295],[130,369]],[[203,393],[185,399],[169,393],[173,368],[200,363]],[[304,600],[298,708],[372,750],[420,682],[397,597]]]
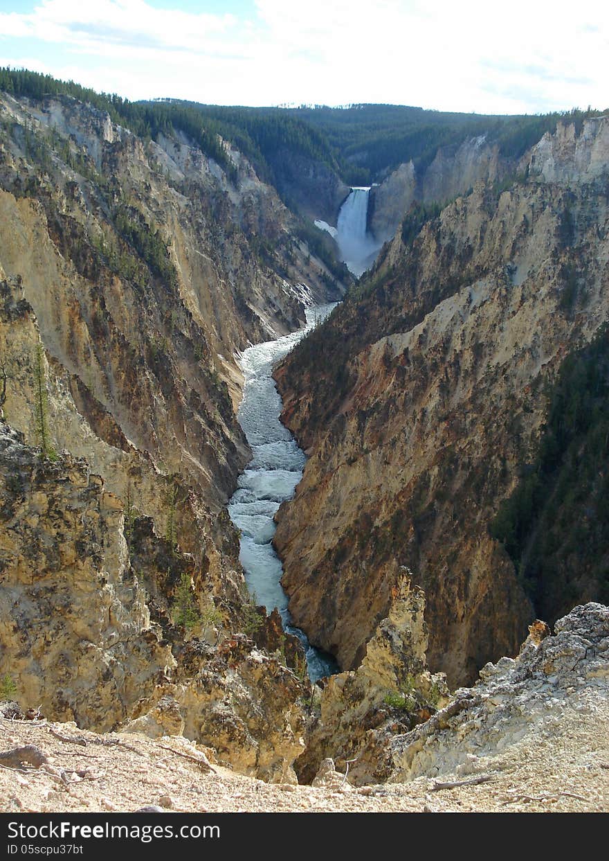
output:
[[[348,185],[380,182],[389,170],[412,159],[424,169],[441,146],[485,136],[501,155],[520,158],[557,121],[581,125],[600,111],[572,110],[546,115],[493,116],[456,114],[402,105],[360,104],[349,108],[231,108],[197,102],[149,102],[198,109],[217,123],[255,164],[263,178],[273,179],[274,158],[286,147],[327,164]]]

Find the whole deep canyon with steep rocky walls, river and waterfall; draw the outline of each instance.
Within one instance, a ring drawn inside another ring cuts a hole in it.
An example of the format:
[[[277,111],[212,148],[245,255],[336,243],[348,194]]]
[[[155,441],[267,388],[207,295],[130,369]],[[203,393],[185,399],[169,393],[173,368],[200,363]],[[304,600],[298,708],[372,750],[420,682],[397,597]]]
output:
[[[605,717],[604,534],[596,567],[571,549],[536,592],[535,536],[519,567],[497,518],[545,450],[565,362],[600,369],[595,416],[605,397],[609,120],[565,118],[524,152],[459,132],[352,186],[323,148],[281,140],[263,162],[238,136],[206,151],[177,120],[123,119],[0,93],[15,739],[46,744],[48,722],[151,758],[169,739],[251,809],[261,781],[279,808],[299,782],[315,791],[294,808],[327,790],[378,809],[371,787],[417,780],[396,809],[420,809],[421,781],[567,733],[574,691],[583,744]]]

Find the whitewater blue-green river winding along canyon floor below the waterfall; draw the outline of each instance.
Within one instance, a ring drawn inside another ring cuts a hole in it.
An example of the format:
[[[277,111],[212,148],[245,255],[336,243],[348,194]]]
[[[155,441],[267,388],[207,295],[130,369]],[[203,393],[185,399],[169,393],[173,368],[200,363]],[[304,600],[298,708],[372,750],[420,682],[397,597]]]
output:
[[[303,643],[311,681],[338,672],[338,667],[330,655],[311,646],[305,633],[292,625],[287,596],[280,583],[283,567],[272,543],[273,517],[282,502],[292,499],[303,476],[306,457],[280,422],[281,399],[272,373],[277,362],[333,307],[311,307],[303,329],[243,350],[239,364],[245,382],[237,419],[254,456],[239,476],[228,505],[231,520],[241,533],[239,559],[249,592],[268,612],[277,607],[284,629]]]

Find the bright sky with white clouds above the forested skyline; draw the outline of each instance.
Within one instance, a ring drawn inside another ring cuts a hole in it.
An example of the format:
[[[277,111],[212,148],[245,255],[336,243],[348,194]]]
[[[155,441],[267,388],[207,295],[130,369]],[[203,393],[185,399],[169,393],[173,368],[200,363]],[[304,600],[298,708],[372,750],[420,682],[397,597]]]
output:
[[[596,0],[0,0],[0,65],[129,99],[609,107]]]

